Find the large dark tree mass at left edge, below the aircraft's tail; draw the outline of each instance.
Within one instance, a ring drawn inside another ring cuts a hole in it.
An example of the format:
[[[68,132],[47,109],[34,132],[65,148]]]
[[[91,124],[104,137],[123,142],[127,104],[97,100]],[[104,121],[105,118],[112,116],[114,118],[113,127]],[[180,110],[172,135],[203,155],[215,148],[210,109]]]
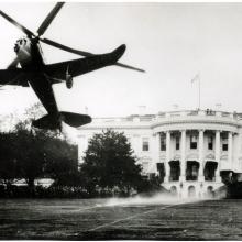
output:
[[[36,178],[55,179],[57,186],[78,186],[77,146],[56,131],[34,129],[32,119],[43,116],[40,105],[25,111],[9,132],[0,132],[0,183],[12,185],[24,179],[32,195]]]

